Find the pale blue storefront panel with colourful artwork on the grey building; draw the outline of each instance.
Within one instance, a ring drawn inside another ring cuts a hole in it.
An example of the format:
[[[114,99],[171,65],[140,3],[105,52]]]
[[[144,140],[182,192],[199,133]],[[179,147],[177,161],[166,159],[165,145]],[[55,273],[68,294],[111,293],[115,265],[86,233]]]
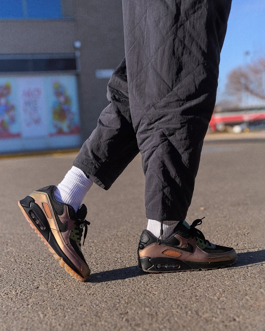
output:
[[[0,77],[0,153],[8,150],[5,144],[14,150],[8,138],[17,138],[18,146],[21,141],[21,149],[30,149],[30,145],[31,149],[45,149],[45,145],[67,147],[67,141],[73,146],[79,135],[75,75]],[[70,138],[73,136],[75,139]]]

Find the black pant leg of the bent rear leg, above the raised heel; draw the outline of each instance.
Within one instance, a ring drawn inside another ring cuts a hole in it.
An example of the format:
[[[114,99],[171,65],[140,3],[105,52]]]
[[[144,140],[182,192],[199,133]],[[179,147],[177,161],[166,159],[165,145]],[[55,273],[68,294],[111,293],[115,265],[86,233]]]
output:
[[[74,166],[96,177],[94,182],[109,189],[139,153],[129,106],[126,61],[108,83],[110,104],[99,116],[97,127],[84,142]]]

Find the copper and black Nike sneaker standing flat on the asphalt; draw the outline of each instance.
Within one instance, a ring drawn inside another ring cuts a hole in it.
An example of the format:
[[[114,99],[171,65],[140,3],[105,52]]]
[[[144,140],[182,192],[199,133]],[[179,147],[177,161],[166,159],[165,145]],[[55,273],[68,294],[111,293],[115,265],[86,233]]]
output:
[[[198,271],[236,263],[237,253],[232,247],[205,240],[202,232],[195,228],[201,223],[202,219],[196,219],[191,225],[180,221],[174,233],[164,240],[144,230],[137,252],[138,268],[146,272]]]

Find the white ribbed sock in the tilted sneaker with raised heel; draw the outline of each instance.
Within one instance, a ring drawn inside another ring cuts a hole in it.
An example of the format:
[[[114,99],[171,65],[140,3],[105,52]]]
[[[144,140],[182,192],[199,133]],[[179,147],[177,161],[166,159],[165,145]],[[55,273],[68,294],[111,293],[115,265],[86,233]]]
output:
[[[56,186],[54,190],[55,199],[72,206],[77,211],[92,186],[94,178],[94,176],[87,178],[81,169],[72,166],[63,181]]]

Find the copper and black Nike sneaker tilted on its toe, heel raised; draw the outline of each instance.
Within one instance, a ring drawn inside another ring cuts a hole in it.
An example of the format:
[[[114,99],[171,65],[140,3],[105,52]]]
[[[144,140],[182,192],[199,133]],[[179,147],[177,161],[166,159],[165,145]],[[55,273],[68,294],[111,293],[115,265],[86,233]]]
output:
[[[65,270],[79,281],[85,281],[90,269],[81,251],[81,237],[85,228],[87,209],[81,205],[77,212],[70,205],[54,198],[54,185],[43,187],[19,201],[19,207],[32,229],[47,245],[49,251]]]

